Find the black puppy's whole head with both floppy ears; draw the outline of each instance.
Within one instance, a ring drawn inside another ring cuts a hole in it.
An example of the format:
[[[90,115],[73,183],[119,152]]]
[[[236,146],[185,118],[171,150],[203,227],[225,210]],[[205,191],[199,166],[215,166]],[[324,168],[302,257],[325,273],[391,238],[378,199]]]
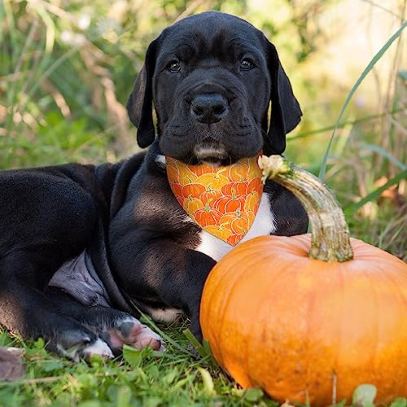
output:
[[[214,11],[167,27],[150,44],[127,104],[142,148],[155,138],[153,103],[162,153],[186,163],[281,154],[302,115],[274,45]]]

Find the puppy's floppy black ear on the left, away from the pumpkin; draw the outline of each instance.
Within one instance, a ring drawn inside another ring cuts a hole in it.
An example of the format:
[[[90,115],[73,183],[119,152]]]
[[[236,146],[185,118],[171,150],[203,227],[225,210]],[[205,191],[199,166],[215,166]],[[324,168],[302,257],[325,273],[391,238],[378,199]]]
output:
[[[154,141],[153,123],[153,75],[156,65],[157,40],[147,49],[146,60],[141,68],[133,92],[127,101],[127,112],[134,126],[137,127],[137,143],[146,148]]]

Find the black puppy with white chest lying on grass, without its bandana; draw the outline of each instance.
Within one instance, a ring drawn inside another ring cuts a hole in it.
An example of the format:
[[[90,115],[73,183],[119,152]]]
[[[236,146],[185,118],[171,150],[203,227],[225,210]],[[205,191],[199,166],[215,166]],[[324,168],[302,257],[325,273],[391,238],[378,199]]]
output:
[[[123,343],[160,348],[130,315],[139,311],[162,321],[186,313],[200,338],[203,284],[232,246],[180,207],[165,156],[217,166],[281,154],[301,117],[275,47],[218,12],[181,20],[150,44],[128,110],[140,147],[151,146],[145,157],[0,174],[0,324],[73,359]],[[306,227],[294,196],[268,182],[243,241]]]

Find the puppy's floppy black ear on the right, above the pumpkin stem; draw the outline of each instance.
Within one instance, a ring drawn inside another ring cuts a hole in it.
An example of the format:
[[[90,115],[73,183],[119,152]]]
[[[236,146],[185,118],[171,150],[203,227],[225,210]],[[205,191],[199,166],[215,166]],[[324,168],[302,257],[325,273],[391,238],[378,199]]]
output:
[[[270,42],[268,65],[271,78],[271,115],[264,153],[282,154],[285,150],[285,135],[300,123],[302,111],[293,94],[291,83],[280,64],[277,50]]]

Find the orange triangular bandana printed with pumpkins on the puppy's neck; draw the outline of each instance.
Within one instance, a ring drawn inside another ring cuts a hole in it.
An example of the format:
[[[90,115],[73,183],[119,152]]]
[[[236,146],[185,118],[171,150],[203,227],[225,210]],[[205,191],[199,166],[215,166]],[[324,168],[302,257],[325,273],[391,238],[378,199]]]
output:
[[[166,157],[169,185],[202,229],[235,246],[253,224],[263,193],[258,157],[219,167]]]

